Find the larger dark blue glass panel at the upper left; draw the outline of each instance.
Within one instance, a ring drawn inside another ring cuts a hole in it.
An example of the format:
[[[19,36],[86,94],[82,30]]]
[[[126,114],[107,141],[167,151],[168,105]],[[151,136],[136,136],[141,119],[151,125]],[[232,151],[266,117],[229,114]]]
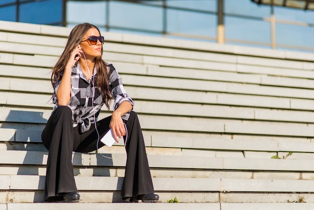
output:
[[[19,22],[24,23],[59,23],[62,21],[62,0],[48,0],[21,4],[19,17]]]

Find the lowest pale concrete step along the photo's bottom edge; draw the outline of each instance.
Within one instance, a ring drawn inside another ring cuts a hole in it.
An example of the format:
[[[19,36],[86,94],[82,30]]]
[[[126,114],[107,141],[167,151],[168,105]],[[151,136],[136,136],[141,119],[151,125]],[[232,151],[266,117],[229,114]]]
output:
[[[7,203],[0,204],[0,210],[60,210],[85,209],[129,209],[129,210],[305,210],[313,209],[314,203]]]

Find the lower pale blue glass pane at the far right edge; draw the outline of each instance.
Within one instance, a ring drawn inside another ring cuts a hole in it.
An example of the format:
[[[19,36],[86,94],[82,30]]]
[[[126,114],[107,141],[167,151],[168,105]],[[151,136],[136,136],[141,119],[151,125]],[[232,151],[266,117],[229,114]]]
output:
[[[276,24],[276,44],[314,47],[314,27]]]

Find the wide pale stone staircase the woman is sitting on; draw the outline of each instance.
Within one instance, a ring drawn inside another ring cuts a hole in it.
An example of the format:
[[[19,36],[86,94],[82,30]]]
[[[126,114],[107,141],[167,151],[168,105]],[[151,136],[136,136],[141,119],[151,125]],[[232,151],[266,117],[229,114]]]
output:
[[[118,143],[73,153],[80,203],[42,203],[51,68],[69,33],[0,21],[0,210],[314,208],[313,54],[105,32],[160,202],[122,202]]]

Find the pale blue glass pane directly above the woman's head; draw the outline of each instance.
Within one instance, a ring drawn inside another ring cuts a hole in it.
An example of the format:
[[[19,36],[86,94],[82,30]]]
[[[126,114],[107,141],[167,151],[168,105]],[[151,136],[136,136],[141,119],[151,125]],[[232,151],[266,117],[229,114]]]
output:
[[[67,24],[77,25],[91,23],[96,26],[106,25],[106,3],[100,2],[67,2]]]

